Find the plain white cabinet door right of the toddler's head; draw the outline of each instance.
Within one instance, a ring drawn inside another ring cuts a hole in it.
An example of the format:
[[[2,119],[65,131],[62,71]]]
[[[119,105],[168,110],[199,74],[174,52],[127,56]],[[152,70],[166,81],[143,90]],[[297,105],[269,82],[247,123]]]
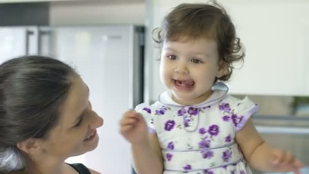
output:
[[[229,4],[244,44],[244,64],[228,83],[234,94],[309,95],[309,3]],[[237,66],[239,67],[239,66]]]

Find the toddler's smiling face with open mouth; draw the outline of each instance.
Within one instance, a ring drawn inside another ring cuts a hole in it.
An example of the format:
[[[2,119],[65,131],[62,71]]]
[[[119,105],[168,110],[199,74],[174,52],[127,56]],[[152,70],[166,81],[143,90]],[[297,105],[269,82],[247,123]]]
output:
[[[203,102],[212,93],[219,68],[217,42],[209,39],[166,41],[162,47],[160,77],[179,104]]]

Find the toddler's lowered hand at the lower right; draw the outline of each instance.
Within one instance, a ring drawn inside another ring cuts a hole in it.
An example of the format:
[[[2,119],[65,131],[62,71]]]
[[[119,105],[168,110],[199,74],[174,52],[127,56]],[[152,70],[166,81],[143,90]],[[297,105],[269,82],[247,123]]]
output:
[[[299,168],[303,168],[304,164],[300,160],[294,158],[291,152],[287,152],[280,149],[274,149],[272,151],[272,161],[274,171],[289,172],[293,171],[295,174],[299,174]]]

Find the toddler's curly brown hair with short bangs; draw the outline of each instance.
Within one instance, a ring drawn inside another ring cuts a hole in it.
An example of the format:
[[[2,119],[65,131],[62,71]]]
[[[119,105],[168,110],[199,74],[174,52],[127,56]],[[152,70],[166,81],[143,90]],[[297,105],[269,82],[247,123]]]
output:
[[[217,2],[180,4],[165,16],[162,28],[152,31],[153,41],[160,46],[164,41],[188,41],[203,37],[218,42],[220,66],[226,69],[225,74],[215,81],[228,81],[233,63],[243,62],[244,48],[236,36],[230,16]]]

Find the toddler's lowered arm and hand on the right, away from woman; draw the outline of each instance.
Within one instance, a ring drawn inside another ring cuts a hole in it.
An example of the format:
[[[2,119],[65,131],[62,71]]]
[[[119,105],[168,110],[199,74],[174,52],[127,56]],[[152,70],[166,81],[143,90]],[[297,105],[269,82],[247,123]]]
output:
[[[236,133],[236,141],[244,158],[258,170],[299,173],[298,169],[303,167],[303,164],[295,159],[292,153],[270,147],[255,129],[251,118]]]

